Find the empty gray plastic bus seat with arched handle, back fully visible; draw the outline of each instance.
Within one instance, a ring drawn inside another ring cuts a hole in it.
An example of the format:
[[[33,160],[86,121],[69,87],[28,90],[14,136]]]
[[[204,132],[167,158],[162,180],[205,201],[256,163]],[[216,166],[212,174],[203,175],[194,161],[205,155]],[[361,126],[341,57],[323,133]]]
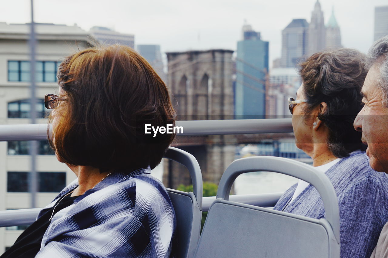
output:
[[[229,201],[236,177],[255,171],[291,175],[312,184],[322,197],[326,220]],[[195,257],[339,258],[340,215],[331,182],[314,167],[286,158],[232,162],[222,175]]]

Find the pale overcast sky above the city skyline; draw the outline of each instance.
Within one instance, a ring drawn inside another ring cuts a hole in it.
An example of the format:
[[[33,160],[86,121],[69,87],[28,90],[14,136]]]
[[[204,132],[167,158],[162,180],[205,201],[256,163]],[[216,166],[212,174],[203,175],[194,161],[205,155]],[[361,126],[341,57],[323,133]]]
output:
[[[236,50],[244,19],[270,42],[270,64],[281,55],[281,31],[307,19],[316,0],[35,0],[35,22],[104,26],[135,34],[135,44],[158,44],[163,52]],[[335,2],[335,3],[334,3]],[[325,23],[334,5],[342,45],[367,52],[373,42],[374,7],[387,0],[320,0]],[[26,23],[29,0],[2,0],[0,21]]]

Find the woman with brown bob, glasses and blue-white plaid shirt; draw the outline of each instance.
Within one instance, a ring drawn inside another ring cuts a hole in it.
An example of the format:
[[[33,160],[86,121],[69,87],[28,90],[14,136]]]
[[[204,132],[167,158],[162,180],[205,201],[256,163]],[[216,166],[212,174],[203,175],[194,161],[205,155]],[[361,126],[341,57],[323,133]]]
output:
[[[55,155],[78,179],[43,208],[5,257],[170,257],[173,206],[150,175],[174,134],[168,89],[132,48],[88,48],[59,66],[46,95]],[[32,238],[33,236],[33,238]]]

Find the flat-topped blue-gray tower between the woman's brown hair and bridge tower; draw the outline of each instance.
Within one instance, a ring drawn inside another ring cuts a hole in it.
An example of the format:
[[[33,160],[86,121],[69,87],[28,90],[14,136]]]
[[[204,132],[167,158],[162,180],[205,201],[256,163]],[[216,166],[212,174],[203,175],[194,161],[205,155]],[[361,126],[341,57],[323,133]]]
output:
[[[163,71],[164,65],[159,45],[137,45],[137,52],[144,57],[159,74],[163,81],[166,81],[166,74]]]

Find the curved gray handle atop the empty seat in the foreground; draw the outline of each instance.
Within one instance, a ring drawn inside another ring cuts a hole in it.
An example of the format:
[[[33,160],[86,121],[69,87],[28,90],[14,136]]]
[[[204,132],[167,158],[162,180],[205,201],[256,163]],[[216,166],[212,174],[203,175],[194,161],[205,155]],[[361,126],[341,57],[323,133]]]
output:
[[[290,175],[312,184],[322,198],[326,211],[326,220],[333,229],[337,243],[340,243],[340,210],[334,187],[326,174],[305,163],[288,158],[269,156],[235,160],[230,163],[221,177],[217,198],[229,200],[230,189],[236,177],[244,173],[256,171],[269,171]]]

